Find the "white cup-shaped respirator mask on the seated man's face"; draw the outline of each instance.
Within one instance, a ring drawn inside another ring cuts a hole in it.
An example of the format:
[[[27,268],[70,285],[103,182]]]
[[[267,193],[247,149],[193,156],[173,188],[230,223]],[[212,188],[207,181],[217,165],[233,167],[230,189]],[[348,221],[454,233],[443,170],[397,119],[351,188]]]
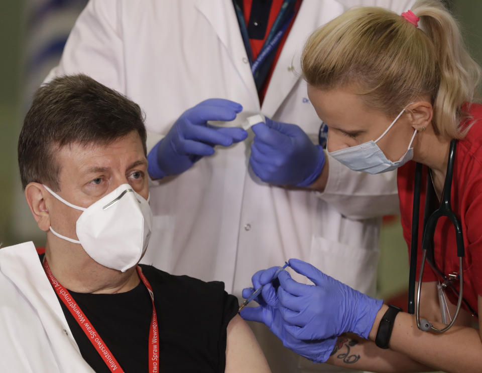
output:
[[[82,245],[97,263],[125,272],[134,267],[146,251],[151,237],[152,211],[148,200],[129,184],[122,184],[88,208],[75,206],[45,189],[71,208],[81,210],[75,231],[78,240],[50,231],[57,237]]]

